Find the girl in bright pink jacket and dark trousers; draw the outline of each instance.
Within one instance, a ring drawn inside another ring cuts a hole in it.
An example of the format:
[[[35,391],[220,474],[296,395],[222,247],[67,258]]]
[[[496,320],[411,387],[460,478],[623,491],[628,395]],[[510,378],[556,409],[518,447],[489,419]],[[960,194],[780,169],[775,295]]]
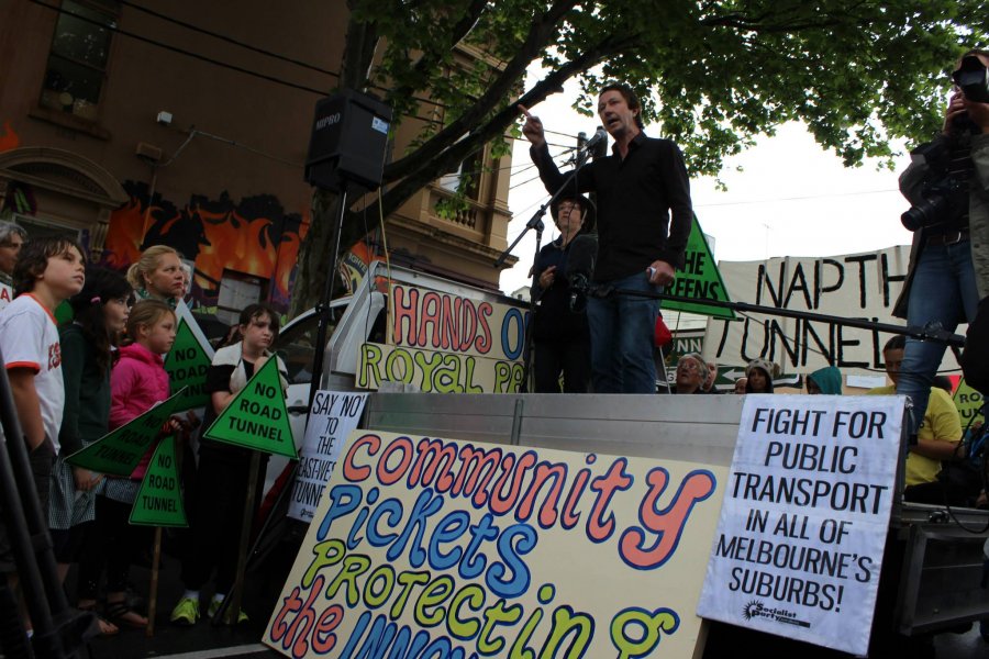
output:
[[[131,309],[127,342],[110,375],[110,429],[118,428],[169,395],[168,373],[162,356],[171,349],[176,332],[175,312],[164,302],[143,300]],[[173,431],[178,422],[173,421]],[[147,618],[126,602],[127,574],[138,529],[129,526],[131,507],[154,447],[130,479],[107,478],[96,504],[96,528],[79,566],[79,606],[96,603],[103,566],[107,568],[105,616],[116,625],[145,627]]]

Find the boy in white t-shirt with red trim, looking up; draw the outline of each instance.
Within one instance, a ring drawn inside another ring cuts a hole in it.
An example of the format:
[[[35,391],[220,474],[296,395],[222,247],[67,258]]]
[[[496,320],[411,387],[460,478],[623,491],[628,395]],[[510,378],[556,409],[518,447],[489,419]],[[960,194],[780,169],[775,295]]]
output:
[[[44,514],[65,402],[54,313],[64,300],[82,290],[85,281],[86,260],[75,242],[60,237],[31,241],[21,249],[14,267],[16,298],[0,311],[0,354]],[[4,540],[0,538],[0,571],[11,572],[15,568]]]

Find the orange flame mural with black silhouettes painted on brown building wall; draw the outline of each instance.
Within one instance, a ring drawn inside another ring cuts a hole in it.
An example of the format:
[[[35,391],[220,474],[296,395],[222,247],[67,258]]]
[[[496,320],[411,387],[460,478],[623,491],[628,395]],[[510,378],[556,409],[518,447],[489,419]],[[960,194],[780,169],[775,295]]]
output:
[[[234,200],[193,194],[178,203],[155,194],[147,183],[123,183],[131,200],[113,212],[103,247],[103,265],[123,270],[152,245],[169,245],[196,264],[193,305],[214,308],[224,270],[268,280],[268,301],[285,311],[309,228],[308,214],[286,212],[273,194]],[[308,212],[307,212],[308,213]]]

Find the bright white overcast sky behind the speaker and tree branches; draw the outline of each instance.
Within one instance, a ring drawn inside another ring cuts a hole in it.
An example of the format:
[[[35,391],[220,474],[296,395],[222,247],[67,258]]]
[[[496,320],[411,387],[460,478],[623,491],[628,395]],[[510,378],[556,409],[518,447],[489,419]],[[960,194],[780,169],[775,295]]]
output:
[[[554,131],[547,135],[552,154],[562,152],[564,145],[575,145],[579,131],[591,135],[598,126],[596,118],[570,109],[576,98],[575,87],[568,86],[531,109],[547,131]],[[662,136],[648,125],[646,134]],[[909,155],[903,155],[894,171],[877,170],[875,161],[845,168],[841,158],[814,142],[805,126],[793,123],[781,126],[774,137],[763,136],[757,146],[725,163],[721,178],[726,191],[719,191],[713,178],[692,178],[691,197],[701,227],[714,237],[718,260],[854,254],[910,244],[911,234],[900,224],[900,214],[909,204],[897,190],[897,176],[908,164]],[[516,141],[509,243],[548,198],[530,165],[529,142]],[[735,171],[737,166],[744,171]],[[557,235],[547,216],[543,244]],[[534,249],[535,235],[530,232],[514,250],[519,264],[501,276],[502,290],[510,293],[529,284]]]

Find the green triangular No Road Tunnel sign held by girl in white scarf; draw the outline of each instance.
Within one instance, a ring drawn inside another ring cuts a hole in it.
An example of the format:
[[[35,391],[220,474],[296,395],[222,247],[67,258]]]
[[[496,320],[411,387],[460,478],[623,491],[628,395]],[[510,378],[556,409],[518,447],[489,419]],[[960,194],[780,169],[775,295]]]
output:
[[[296,459],[296,443],[285,409],[278,358],[268,359],[230,401],[205,437]]]

